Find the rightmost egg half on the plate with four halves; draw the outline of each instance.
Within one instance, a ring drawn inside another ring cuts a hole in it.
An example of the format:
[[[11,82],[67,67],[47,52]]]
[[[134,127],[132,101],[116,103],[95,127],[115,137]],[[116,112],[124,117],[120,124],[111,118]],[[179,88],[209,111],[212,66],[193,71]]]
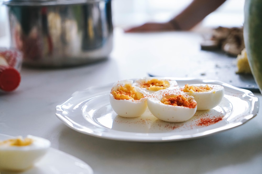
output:
[[[185,85],[181,91],[194,97],[197,110],[212,109],[222,101],[225,94],[223,86],[212,84]]]

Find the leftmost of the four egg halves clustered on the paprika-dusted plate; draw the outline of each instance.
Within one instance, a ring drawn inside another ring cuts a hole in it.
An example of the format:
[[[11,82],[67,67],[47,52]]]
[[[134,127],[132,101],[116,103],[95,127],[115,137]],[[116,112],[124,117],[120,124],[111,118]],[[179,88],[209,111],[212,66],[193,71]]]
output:
[[[114,83],[109,99],[112,109],[121,117],[139,117],[147,109],[146,93],[139,92],[132,80]]]

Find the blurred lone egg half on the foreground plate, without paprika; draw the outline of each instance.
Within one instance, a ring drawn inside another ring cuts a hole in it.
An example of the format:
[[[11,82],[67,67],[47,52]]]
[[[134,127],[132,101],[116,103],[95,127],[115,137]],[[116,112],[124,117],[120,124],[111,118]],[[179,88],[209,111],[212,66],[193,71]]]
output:
[[[51,143],[32,135],[0,141],[0,170],[24,171],[43,157]]]

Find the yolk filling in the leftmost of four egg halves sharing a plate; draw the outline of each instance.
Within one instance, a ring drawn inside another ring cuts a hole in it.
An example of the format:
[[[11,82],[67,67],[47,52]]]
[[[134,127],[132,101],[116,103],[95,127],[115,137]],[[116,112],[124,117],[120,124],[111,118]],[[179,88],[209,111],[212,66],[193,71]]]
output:
[[[117,100],[140,100],[144,97],[144,95],[140,92],[137,92],[137,90],[135,90],[131,84],[125,84],[124,86],[121,85],[117,90],[112,91],[111,94]]]

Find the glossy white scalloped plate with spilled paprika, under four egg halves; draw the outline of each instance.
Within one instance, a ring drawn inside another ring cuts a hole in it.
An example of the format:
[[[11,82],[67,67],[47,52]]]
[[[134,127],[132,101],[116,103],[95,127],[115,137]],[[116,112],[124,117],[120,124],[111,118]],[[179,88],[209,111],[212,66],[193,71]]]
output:
[[[183,123],[161,121],[150,111],[141,117],[123,118],[111,108],[111,83],[73,93],[72,97],[56,107],[56,116],[68,127],[91,136],[121,141],[163,142],[192,139],[234,128],[258,113],[259,99],[248,90],[215,80],[174,80],[177,80],[179,86],[187,83],[222,85],[225,96],[218,106],[207,111],[197,111]]]

